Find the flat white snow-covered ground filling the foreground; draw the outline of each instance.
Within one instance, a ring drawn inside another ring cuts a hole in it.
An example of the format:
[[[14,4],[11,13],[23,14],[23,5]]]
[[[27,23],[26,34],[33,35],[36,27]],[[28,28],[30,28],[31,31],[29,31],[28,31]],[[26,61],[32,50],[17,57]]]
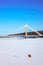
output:
[[[43,65],[43,38],[0,39],[0,65]]]

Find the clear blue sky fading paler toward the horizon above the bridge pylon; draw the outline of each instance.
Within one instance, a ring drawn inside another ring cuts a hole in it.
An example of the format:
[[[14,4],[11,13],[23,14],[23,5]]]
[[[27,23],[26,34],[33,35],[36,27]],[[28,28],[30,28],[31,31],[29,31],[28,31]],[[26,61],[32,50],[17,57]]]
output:
[[[43,0],[0,0],[0,35],[17,33],[26,23],[43,30]]]

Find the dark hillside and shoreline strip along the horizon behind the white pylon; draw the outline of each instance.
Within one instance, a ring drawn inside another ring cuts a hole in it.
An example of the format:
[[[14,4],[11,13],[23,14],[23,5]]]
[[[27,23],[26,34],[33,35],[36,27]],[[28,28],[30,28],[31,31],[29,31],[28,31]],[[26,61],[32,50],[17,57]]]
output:
[[[43,38],[43,31],[38,31],[42,36],[39,36],[36,32],[27,32],[28,38]],[[26,38],[25,32],[18,33],[18,34],[8,34],[6,36],[1,36],[0,38],[14,38],[14,37],[21,37]]]

